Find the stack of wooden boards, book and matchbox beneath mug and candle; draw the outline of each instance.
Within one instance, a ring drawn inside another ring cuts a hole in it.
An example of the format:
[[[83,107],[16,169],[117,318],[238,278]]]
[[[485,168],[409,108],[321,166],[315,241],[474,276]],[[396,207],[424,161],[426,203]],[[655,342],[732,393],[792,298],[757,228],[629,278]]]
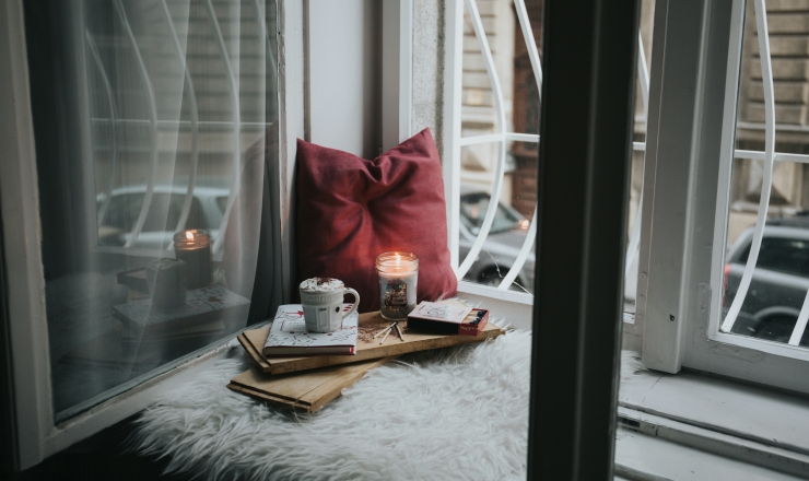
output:
[[[485,309],[457,301],[429,304],[422,308],[422,317],[411,316],[407,324],[391,322],[378,310],[352,314],[343,320],[342,329],[331,333],[306,332],[300,304],[280,306],[270,326],[238,336],[255,365],[227,387],[273,404],[312,412],[370,369],[401,354],[482,342],[504,333],[488,322]],[[420,315],[419,309],[413,313]]]

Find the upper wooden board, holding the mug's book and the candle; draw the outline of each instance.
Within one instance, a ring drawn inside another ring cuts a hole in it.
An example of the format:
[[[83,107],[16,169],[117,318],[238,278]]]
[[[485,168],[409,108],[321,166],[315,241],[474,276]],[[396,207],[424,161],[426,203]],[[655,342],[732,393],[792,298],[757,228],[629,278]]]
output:
[[[477,337],[438,335],[404,329],[403,342],[398,336],[396,336],[396,332],[391,332],[385,340],[385,343],[380,345],[379,341],[382,338],[373,339],[373,336],[389,325],[390,321],[384,319],[379,315],[378,310],[375,313],[361,314],[355,355],[318,355],[308,357],[268,359],[261,354],[261,350],[263,349],[267,336],[270,332],[269,327],[246,330],[238,335],[237,339],[262,372],[268,374],[283,374],[294,373],[296,371],[314,369],[316,367],[355,363],[390,355],[401,355],[410,352],[427,351],[431,349],[448,348],[452,345],[468,344],[472,342],[483,342],[486,339],[493,339],[505,333],[503,329],[494,326],[491,321]]]

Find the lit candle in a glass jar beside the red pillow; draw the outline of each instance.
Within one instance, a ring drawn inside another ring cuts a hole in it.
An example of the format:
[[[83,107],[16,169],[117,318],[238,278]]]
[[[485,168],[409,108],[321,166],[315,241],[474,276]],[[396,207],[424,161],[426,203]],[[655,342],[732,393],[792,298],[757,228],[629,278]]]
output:
[[[415,308],[419,258],[413,253],[383,253],[376,258],[382,317],[404,320]]]

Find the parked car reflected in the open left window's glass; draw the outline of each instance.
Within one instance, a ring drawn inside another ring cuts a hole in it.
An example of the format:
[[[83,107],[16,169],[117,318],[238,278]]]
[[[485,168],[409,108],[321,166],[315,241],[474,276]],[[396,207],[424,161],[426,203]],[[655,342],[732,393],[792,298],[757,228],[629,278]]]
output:
[[[165,249],[168,246],[183,212],[187,188],[187,177],[177,177],[172,183],[155,184],[143,228],[132,247]],[[107,213],[98,226],[99,245],[122,246],[129,241],[145,191],[145,184],[113,189]],[[225,177],[199,177],[194,189],[186,228],[207,228],[214,239],[227,206],[228,192],[230,187]],[[96,196],[98,211],[105,196],[104,192]]]

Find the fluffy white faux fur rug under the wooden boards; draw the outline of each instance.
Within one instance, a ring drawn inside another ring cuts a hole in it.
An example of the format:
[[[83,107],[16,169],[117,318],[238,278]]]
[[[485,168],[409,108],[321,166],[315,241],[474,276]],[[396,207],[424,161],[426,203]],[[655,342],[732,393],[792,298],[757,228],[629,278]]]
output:
[[[248,367],[234,348],[144,411],[132,447],[211,480],[525,479],[530,342],[509,331],[403,356],[312,414],[226,389]]]

